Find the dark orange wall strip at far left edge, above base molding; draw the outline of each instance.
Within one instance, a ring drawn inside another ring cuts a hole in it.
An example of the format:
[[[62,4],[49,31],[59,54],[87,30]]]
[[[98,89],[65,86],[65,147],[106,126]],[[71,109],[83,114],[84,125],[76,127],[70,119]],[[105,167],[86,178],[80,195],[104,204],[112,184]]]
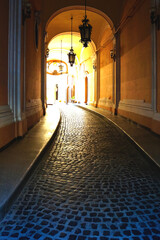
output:
[[[8,18],[9,18],[9,1],[1,0],[0,106],[8,104]]]

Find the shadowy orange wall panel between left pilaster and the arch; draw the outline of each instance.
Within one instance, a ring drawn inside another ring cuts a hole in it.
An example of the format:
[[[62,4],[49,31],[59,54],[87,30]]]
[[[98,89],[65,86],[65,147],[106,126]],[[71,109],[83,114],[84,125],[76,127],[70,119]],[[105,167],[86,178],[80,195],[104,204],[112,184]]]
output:
[[[38,0],[32,0],[31,19],[26,20],[26,101],[41,98],[41,24],[39,25],[39,47],[35,46],[34,11],[40,10]]]

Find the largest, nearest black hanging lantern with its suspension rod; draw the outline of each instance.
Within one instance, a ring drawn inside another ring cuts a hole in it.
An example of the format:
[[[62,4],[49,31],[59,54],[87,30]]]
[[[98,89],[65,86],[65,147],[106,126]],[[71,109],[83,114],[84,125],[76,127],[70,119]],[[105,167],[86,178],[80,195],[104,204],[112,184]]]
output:
[[[80,34],[81,34],[81,43],[86,48],[88,47],[88,42],[91,42],[91,32],[92,26],[88,23],[89,19],[87,19],[86,15],[86,0],[85,0],[85,16],[82,20],[82,25],[79,26]]]

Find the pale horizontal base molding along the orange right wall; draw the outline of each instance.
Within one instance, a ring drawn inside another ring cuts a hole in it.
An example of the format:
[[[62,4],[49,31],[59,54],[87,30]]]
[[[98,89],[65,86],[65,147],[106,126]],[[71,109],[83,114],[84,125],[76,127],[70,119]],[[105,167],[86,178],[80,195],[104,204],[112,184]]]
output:
[[[152,104],[144,100],[123,99],[119,102],[119,110],[136,113],[145,117],[153,118]]]

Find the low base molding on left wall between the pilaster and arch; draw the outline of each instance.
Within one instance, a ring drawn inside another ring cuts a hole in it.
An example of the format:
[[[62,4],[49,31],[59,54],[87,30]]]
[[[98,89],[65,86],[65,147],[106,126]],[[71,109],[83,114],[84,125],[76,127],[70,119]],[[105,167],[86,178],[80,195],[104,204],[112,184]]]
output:
[[[29,117],[42,110],[41,99],[31,99],[26,103],[26,116]]]

